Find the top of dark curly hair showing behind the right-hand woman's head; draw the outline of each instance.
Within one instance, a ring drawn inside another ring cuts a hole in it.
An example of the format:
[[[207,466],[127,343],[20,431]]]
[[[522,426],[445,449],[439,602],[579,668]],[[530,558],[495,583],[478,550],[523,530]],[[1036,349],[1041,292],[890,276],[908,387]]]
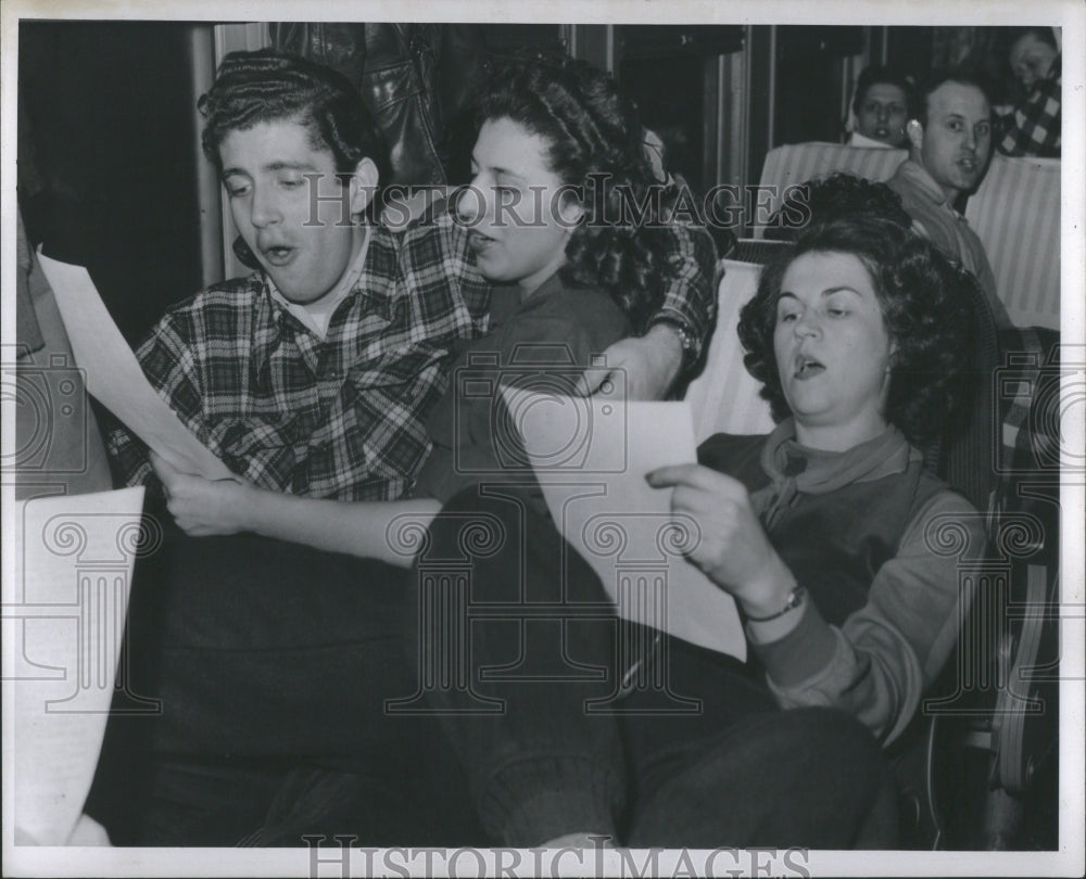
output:
[[[788,187],[786,193],[766,229],[772,241],[795,241],[810,224],[838,217],[875,216],[902,229],[912,227],[912,217],[894,190],[844,171]]]

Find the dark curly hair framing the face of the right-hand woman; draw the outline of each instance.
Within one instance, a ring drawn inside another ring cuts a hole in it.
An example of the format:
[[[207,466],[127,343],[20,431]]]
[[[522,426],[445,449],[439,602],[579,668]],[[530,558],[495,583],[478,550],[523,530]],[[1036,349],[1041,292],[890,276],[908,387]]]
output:
[[[933,438],[972,391],[976,279],[926,239],[879,217],[848,216],[819,221],[794,247],[766,266],[758,291],[741,311],[738,335],[747,371],[762,382],[778,421],[791,411],[781,387],[773,333],[776,303],[788,267],[809,253],[843,253],[863,263],[895,345],[886,420],[913,445]]]

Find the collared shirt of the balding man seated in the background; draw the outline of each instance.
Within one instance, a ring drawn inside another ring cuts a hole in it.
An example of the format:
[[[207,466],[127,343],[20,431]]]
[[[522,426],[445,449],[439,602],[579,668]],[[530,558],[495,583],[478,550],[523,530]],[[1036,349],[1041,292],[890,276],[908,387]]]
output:
[[[886,186],[901,196],[906,213],[912,217],[924,237],[976,276],[992,306],[996,323],[1000,327],[1013,326],[996,290],[996,277],[984,244],[976,232],[969,228],[969,221],[949,204],[943,188],[935,182],[927,169],[915,160],[907,158],[886,181]]]

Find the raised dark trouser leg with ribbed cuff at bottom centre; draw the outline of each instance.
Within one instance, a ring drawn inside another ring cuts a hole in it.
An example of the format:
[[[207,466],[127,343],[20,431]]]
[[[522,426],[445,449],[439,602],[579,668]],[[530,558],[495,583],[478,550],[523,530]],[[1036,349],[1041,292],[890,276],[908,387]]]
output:
[[[528,489],[467,488],[429,537],[411,582],[420,665],[434,670],[425,702],[488,835],[521,846],[567,830],[616,836],[619,730],[584,708],[615,695],[615,617],[598,581]]]

